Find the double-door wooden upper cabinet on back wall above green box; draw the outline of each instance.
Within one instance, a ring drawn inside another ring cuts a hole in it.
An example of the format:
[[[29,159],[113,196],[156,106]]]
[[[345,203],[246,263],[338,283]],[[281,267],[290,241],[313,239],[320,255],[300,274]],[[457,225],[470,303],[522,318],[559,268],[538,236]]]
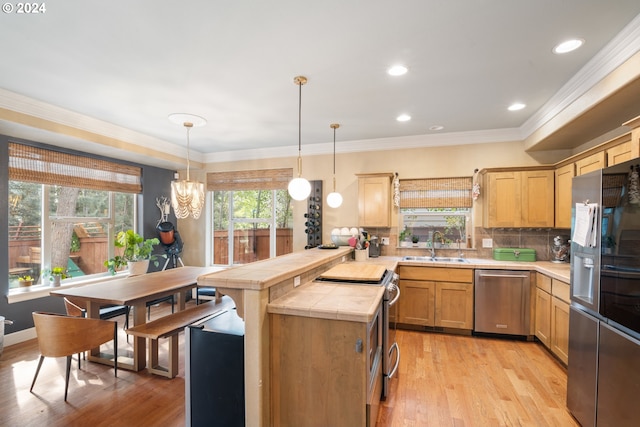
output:
[[[553,227],[554,171],[487,172],[484,227]]]

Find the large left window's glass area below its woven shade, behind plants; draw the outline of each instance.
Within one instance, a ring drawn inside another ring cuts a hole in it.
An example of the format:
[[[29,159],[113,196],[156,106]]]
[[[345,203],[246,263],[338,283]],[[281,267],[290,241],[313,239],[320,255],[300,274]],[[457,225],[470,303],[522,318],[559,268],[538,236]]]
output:
[[[26,275],[46,283],[52,266],[71,278],[102,274],[115,233],[133,227],[134,194],[21,181],[9,181],[9,194],[9,289]]]

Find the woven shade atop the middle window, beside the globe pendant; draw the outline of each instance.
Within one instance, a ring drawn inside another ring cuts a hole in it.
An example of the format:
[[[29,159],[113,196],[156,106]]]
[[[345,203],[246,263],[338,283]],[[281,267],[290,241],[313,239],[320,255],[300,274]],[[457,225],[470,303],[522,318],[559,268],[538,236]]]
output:
[[[287,188],[293,169],[261,169],[207,174],[207,191],[281,190]]]

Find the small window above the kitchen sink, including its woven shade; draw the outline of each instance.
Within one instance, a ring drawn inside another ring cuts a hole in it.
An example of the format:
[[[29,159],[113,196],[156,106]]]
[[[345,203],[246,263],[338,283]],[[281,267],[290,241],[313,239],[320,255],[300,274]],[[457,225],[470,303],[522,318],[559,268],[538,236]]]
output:
[[[471,247],[472,178],[400,180],[400,246]]]

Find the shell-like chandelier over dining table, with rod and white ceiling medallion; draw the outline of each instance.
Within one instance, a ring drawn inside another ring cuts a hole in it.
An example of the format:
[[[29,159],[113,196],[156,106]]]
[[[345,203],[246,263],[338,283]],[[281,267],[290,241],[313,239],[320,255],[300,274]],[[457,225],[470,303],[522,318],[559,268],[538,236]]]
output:
[[[169,120],[182,124],[187,129],[187,179],[176,179],[171,182],[171,205],[178,219],[192,216],[194,219],[200,218],[202,207],[204,206],[204,184],[198,181],[191,181],[189,169],[191,161],[189,158],[189,132],[191,128],[204,126],[207,121],[193,114],[175,113],[169,115]]]

